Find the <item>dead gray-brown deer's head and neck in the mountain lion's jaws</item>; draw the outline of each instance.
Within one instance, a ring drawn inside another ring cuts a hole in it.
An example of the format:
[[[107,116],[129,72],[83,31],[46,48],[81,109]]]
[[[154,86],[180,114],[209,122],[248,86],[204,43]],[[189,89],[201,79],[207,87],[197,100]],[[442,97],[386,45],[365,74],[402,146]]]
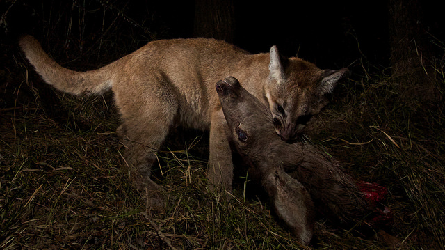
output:
[[[314,146],[282,141],[275,134],[270,111],[234,77],[219,81],[216,90],[229,125],[229,138],[238,153],[250,163],[252,175],[261,181],[275,210],[291,210],[291,206],[297,206],[296,209],[305,210],[293,213],[293,218],[307,218],[308,210],[312,208],[305,201],[306,193],[309,192],[316,209],[323,214],[345,221],[364,216],[364,196],[337,163],[325,157]],[[276,183],[291,184],[277,185],[271,182],[270,176],[275,173],[279,173],[279,179],[283,180]],[[303,186],[305,189],[300,189]],[[287,198],[279,199],[282,202],[277,203],[276,196],[296,197],[299,201]],[[289,224],[292,217],[281,215],[280,218],[290,228],[294,228]],[[304,228],[304,224],[299,225]]]

